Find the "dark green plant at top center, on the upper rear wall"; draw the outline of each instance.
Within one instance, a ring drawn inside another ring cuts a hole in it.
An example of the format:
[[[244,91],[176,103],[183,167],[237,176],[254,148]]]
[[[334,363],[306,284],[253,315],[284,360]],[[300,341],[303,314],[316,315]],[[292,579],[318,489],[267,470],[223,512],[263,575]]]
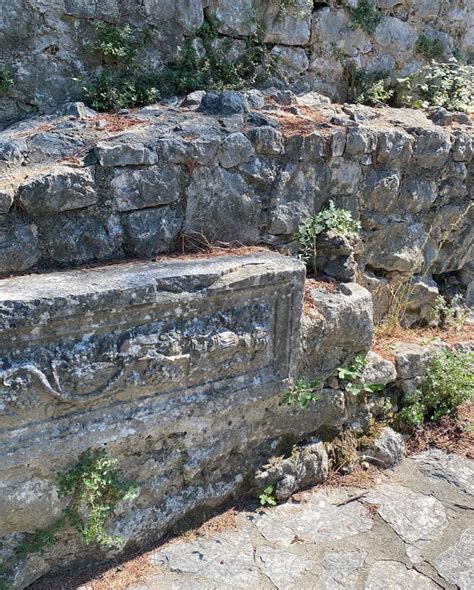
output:
[[[201,51],[196,49],[201,45]],[[276,58],[260,41],[259,34],[248,37],[241,55],[228,57],[232,41],[219,36],[214,20],[208,19],[183,45],[180,59],[160,74],[160,83],[169,93],[187,94],[212,88],[229,90],[264,81],[274,70]]]

